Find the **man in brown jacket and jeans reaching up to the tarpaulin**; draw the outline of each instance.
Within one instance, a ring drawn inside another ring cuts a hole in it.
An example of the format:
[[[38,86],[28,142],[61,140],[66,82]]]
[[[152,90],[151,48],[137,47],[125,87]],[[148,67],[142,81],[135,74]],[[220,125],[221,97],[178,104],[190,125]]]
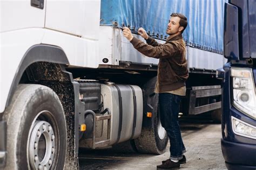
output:
[[[143,55],[159,58],[156,93],[159,93],[160,120],[170,139],[170,159],[162,161],[158,169],[179,168],[186,162],[186,152],[181,138],[178,114],[181,96],[186,95],[185,81],[188,78],[186,44],[181,33],[186,29],[187,18],[181,13],[172,13],[166,33],[165,44],[149,37],[143,28],[138,29],[146,43],[133,37],[129,28],[123,29],[126,37]]]

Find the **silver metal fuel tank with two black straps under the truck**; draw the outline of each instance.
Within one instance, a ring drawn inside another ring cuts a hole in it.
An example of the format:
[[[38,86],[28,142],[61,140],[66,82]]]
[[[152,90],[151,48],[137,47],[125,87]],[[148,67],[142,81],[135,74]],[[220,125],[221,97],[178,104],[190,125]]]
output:
[[[102,84],[101,95],[104,109],[111,111],[110,145],[137,138],[142,131],[142,89],[134,85]]]

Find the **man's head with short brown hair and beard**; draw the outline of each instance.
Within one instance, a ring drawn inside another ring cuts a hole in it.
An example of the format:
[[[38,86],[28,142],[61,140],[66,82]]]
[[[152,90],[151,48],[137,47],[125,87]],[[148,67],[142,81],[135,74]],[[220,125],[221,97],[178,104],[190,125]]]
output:
[[[172,13],[166,29],[168,35],[181,34],[187,27],[187,18],[181,13]]]

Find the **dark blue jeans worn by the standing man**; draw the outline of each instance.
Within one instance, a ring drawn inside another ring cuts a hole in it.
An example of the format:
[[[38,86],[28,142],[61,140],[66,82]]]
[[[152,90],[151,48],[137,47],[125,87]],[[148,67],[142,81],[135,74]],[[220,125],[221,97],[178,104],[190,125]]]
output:
[[[181,97],[171,93],[159,93],[160,121],[170,139],[170,159],[180,160],[186,152],[179,128]]]

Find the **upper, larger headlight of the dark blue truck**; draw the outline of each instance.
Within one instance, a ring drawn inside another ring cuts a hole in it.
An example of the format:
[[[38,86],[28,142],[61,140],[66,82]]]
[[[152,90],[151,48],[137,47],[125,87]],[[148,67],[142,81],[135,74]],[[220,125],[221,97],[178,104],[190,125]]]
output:
[[[252,69],[231,67],[233,105],[242,113],[256,119],[256,97]]]

